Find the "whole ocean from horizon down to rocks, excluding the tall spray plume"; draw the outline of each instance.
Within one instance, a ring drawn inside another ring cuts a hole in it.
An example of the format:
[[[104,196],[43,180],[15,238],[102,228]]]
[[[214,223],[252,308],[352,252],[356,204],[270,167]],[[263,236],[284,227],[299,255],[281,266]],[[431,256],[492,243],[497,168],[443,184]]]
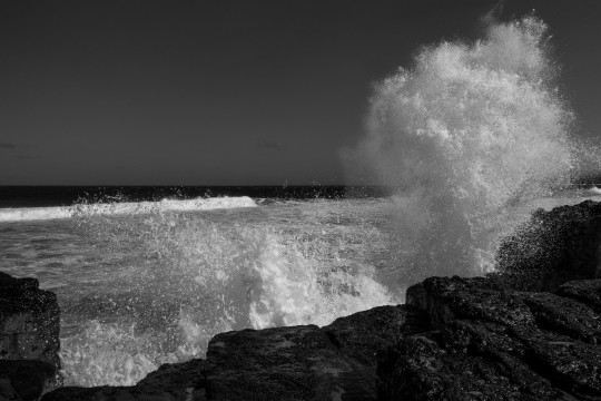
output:
[[[57,293],[66,384],[135,384],[161,363],[203,358],[219,332],[325,325],[403,303],[432,272],[398,265],[410,250],[393,246],[386,193],[3,187],[0,270]],[[601,194],[564,192],[521,213],[584,198]]]

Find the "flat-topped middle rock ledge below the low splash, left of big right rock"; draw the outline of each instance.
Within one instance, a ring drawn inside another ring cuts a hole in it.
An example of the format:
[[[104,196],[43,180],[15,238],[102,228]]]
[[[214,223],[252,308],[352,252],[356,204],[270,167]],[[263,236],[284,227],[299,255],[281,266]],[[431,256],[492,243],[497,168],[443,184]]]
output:
[[[209,400],[375,400],[376,351],[423,331],[412,307],[381,306],[315,325],[217,334]]]

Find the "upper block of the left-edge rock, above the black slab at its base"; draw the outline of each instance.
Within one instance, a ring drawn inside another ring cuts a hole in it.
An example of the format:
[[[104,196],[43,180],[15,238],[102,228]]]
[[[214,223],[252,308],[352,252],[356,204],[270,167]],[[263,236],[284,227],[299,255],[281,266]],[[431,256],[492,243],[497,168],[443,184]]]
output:
[[[60,369],[60,312],[56,294],[36,278],[0,272],[0,360],[37,359]]]

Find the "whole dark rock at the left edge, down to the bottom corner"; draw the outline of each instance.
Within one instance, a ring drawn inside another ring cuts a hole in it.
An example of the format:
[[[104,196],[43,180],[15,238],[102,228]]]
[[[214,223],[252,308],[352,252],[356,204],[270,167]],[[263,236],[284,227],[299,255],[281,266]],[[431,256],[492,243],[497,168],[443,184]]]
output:
[[[37,400],[60,384],[57,296],[0,272],[0,400]]]

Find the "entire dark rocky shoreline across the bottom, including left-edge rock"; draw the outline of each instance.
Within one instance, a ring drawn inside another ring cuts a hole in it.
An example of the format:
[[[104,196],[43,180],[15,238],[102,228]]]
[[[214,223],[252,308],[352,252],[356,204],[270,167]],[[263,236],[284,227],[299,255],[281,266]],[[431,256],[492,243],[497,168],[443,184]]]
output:
[[[217,334],[134,387],[56,390],[56,296],[0,274],[0,400],[601,400],[601,203],[538,211],[497,261],[324,327]]]

